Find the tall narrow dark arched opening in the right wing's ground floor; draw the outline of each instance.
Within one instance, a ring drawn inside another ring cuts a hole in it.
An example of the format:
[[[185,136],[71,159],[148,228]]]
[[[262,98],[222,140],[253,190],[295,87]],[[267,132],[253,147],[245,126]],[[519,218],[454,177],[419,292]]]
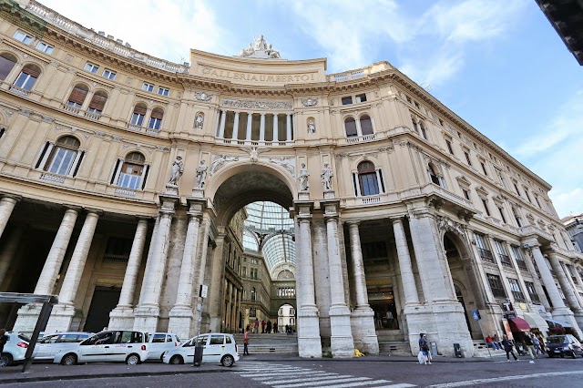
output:
[[[484,312],[484,301],[477,289],[475,269],[466,250],[464,240],[455,232],[448,231],[444,235],[444,250],[449,270],[454,281],[455,297],[464,307],[465,322],[473,339],[482,339],[479,324],[473,319],[472,311]]]

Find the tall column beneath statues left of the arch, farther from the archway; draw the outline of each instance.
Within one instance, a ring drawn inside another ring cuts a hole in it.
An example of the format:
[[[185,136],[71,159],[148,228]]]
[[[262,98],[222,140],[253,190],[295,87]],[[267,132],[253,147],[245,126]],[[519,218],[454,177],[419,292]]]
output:
[[[134,310],[134,330],[156,332],[159,318],[159,298],[166,271],[169,249],[169,234],[178,197],[159,196],[159,223],[156,235],[152,236],[151,252],[144,272],[144,280],[139,294],[138,306]]]

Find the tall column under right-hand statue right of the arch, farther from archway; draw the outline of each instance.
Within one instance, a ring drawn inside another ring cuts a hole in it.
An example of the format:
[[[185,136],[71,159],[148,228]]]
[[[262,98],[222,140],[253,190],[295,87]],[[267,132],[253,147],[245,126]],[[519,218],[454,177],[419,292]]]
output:
[[[333,357],[353,357],[354,340],[350,322],[350,310],[344,299],[343,265],[338,242],[337,200],[321,201],[326,222],[328,269],[330,281],[330,345]]]

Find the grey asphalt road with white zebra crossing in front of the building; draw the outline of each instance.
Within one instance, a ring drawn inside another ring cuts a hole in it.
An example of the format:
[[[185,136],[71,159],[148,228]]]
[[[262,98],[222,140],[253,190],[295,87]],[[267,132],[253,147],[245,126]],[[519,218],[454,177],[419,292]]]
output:
[[[435,360],[432,365],[420,365],[414,359],[386,361],[374,358],[355,360],[304,360],[277,359],[253,360],[242,358],[232,368],[213,368],[195,371],[191,365],[172,366],[171,374],[122,376],[99,378],[100,373],[112,373],[127,369],[127,365],[96,363],[63,367],[48,364],[47,373],[53,368],[83,368],[81,373],[89,378],[46,381],[34,383],[3,383],[3,387],[334,387],[334,388],[408,388],[414,386],[445,387],[580,387],[583,386],[583,359],[547,359],[534,363],[522,359],[519,362],[469,361],[446,362]],[[134,372],[163,371],[170,365],[148,364],[132,366]],[[56,369],[58,371],[58,369]],[[88,377],[88,376],[87,376]]]

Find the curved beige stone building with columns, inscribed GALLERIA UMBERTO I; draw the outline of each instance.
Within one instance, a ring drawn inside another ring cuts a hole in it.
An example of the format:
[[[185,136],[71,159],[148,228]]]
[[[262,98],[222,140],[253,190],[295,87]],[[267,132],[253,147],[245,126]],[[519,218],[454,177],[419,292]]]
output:
[[[0,12],[0,291],[58,295],[46,332],[187,338],[285,305],[303,357],[420,332],[471,356],[480,324],[522,320],[583,337],[550,185],[391,64],[327,74],[263,36],[174,64],[35,1]],[[21,332],[39,313],[0,309]]]

